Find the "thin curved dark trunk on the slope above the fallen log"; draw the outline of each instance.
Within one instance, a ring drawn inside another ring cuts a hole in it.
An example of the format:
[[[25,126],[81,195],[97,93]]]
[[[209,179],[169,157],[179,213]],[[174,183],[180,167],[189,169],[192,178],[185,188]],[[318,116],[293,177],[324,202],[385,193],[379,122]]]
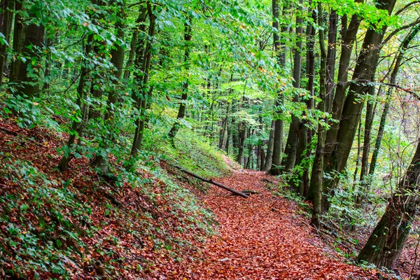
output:
[[[188,60],[190,59],[190,41],[193,37],[193,30],[191,26],[192,18],[188,17],[186,22],[184,23],[184,43],[185,43],[185,52],[184,52],[184,62],[186,64],[185,68],[186,71],[190,69],[188,66]],[[179,104],[179,111],[178,116],[176,116],[176,121],[174,125],[172,125],[171,130],[169,131],[169,141],[171,141],[172,146],[175,146],[174,144],[174,137],[176,136],[176,133],[179,130],[179,121],[186,116],[186,103],[188,98],[188,78],[183,81],[183,88],[182,88],[182,95],[181,95],[181,103]],[[229,111],[229,109],[228,109]],[[223,135],[224,136],[224,135]]]

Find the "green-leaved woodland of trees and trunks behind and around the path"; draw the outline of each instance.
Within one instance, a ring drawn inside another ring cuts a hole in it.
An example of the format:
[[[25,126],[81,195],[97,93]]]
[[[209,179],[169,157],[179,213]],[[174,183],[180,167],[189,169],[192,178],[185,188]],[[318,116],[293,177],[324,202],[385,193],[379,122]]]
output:
[[[85,160],[113,188],[142,186],[163,160],[221,176],[223,151],[281,176],[314,227],[365,241],[360,263],[391,269],[419,238],[419,1],[0,5],[1,121],[59,135],[56,172]],[[0,156],[2,186],[45,183],[30,158]],[[8,214],[32,207],[19,201],[3,190],[2,258],[22,230]]]

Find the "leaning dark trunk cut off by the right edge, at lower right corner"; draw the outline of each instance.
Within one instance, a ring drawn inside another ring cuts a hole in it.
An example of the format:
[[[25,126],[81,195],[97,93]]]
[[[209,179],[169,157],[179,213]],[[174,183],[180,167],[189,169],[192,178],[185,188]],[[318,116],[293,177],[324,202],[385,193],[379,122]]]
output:
[[[357,260],[391,268],[398,260],[419,208],[420,142],[407,172],[389,200],[384,216],[374,228]]]

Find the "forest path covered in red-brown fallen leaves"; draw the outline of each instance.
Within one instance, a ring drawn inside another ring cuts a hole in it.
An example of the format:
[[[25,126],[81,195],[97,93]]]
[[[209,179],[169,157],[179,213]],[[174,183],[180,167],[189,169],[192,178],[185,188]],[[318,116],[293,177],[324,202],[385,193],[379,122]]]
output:
[[[244,199],[220,188],[209,190],[204,204],[214,212],[219,234],[207,240],[204,260],[184,267],[186,279],[377,279],[325,246],[292,202],[267,189],[273,180],[251,170],[218,179],[260,194]]]

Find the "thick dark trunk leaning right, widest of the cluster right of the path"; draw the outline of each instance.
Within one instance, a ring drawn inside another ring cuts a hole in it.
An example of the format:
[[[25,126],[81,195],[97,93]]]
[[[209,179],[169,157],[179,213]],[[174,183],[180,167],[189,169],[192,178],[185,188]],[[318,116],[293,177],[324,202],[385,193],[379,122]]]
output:
[[[388,15],[391,15],[395,0],[380,0],[376,3],[377,8],[386,10]],[[349,87],[349,94],[346,96],[342,116],[339,122],[339,130],[337,139],[335,140],[335,149],[332,151],[330,158],[330,165],[328,165],[327,172],[340,173],[344,170],[353,139],[356,135],[360,114],[363,108],[363,102],[359,100],[360,96],[365,96],[370,86],[373,73],[377,66],[379,52],[381,50],[381,41],[384,38],[386,26],[382,27],[381,31],[375,31],[374,27],[367,30],[365,39],[363,41],[362,49],[357,59],[356,67],[354,69],[352,80]],[[347,33],[349,30],[347,31]],[[335,192],[337,184],[337,177],[325,181],[324,190],[325,195],[332,197]],[[329,200],[324,200],[323,210],[327,211],[330,207]]]

